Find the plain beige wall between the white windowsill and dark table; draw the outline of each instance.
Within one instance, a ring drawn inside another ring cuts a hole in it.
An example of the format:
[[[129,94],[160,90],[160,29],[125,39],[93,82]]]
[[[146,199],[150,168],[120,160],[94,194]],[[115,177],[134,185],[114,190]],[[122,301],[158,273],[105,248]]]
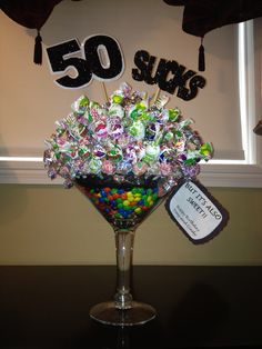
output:
[[[110,226],[77,190],[0,186],[0,265],[114,263]],[[230,211],[228,227],[194,246],[162,206],[137,231],[134,262],[262,265],[262,189],[210,188]]]

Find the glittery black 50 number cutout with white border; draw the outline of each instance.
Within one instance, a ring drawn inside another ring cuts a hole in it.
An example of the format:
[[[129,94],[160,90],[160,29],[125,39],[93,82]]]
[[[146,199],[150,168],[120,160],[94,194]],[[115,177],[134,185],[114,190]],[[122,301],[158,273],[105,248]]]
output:
[[[78,52],[80,57],[75,56]],[[77,39],[64,41],[47,48],[47,54],[52,73],[66,73],[56,80],[63,88],[81,88],[93,78],[100,81],[117,80],[124,70],[121,48],[109,36],[89,37],[82,46]]]

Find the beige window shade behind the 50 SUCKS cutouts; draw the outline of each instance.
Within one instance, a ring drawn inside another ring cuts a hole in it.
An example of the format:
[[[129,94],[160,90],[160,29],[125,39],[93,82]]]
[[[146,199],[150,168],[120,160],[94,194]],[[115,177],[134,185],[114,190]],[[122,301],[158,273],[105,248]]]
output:
[[[134,90],[152,96],[157,84],[132,79],[137,51],[147,50],[157,57],[157,63],[164,58],[198,71],[200,40],[181,30],[182,14],[182,7],[169,7],[162,0],[64,0],[41,30],[43,63],[36,66],[32,62],[36,30],[17,24],[0,11],[0,80],[4,87],[0,93],[0,156],[41,156],[43,140],[53,132],[54,121],[67,117],[77,98],[88,94],[104,102],[98,80],[77,90],[56,84],[56,79],[75,76],[75,71],[51,74],[47,47],[73,38],[81,43],[99,33],[111,36],[122,48],[125,70],[119,80],[105,83],[108,93],[127,81]],[[206,36],[206,70],[200,73],[206,86],[196,98],[184,101],[177,97],[178,91],[169,94],[169,108],[178,107],[184,118],[195,121],[194,128],[203,139],[214,143],[215,156],[240,149],[235,32],[235,27],[226,26]]]

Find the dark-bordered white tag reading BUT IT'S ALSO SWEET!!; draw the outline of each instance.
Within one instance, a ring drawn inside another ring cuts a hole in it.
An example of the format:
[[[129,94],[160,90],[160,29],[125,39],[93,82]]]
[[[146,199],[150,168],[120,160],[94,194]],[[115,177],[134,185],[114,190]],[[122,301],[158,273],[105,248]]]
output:
[[[206,242],[229,220],[228,211],[196,181],[183,181],[165,202],[170,217],[194,243]]]

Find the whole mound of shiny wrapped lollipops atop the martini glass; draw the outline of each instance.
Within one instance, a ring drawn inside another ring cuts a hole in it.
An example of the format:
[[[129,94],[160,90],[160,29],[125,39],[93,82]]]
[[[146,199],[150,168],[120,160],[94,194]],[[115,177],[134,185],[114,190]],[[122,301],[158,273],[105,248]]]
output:
[[[87,176],[120,183],[141,183],[151,177],[173,183],[198,176],[199,162],[212,157],[212,144],[202,142],[191,129],[192,120],[182,119],[178,108],[168,109],[168,101],[162,96],[152,103],[127,82],[103,106],[81,96],[46,140],[48,176],[64,178],[66,188]]]

